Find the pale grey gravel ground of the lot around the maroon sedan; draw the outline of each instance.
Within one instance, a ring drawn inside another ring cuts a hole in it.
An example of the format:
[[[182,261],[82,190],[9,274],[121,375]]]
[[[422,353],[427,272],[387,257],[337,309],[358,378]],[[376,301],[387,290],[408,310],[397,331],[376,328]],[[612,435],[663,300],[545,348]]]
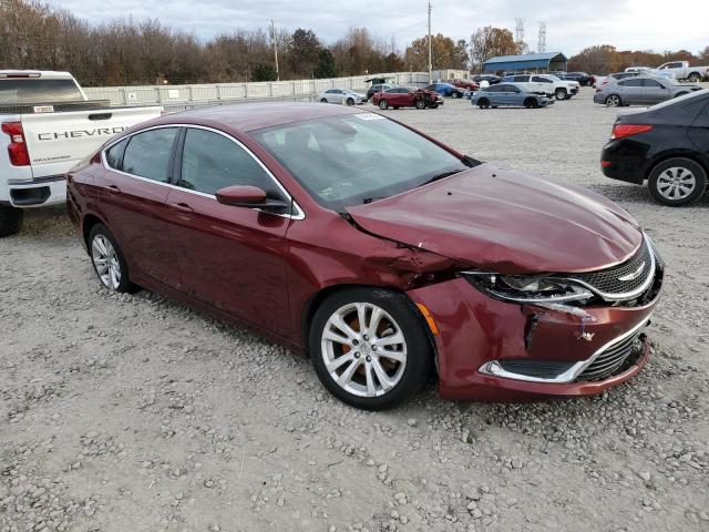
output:
[[[345,407],[308,361],[142,291],[101,289],[62,209],[0,241],[0,532],[707,531],[709,198],[598,170],[614,111],[390,111],[636,215],[669,265],[653,357],[603,396]]]

